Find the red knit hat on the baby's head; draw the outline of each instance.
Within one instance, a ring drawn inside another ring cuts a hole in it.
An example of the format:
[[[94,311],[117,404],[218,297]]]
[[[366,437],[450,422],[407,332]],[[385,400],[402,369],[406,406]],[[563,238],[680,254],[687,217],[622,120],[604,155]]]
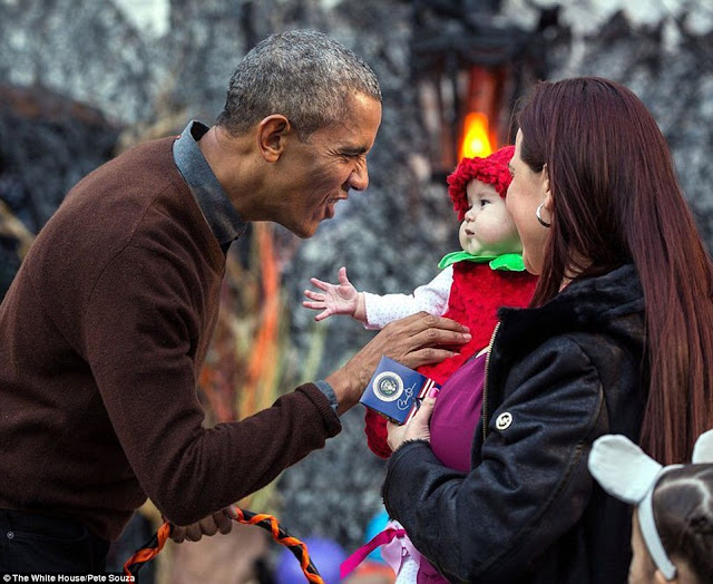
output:
[[[504,146],[494,152],[487,158],[463,158],[460,164],[447,178],[448,195],[453,202],[453,208],[458,212],[458,221],[462,221],[468,205],[468,193],[466,186],[470,181],[481,181],[495,186],[498,194],[505,198],[510,186],[510,171],[508,163],[515,154],[515,146]]]

